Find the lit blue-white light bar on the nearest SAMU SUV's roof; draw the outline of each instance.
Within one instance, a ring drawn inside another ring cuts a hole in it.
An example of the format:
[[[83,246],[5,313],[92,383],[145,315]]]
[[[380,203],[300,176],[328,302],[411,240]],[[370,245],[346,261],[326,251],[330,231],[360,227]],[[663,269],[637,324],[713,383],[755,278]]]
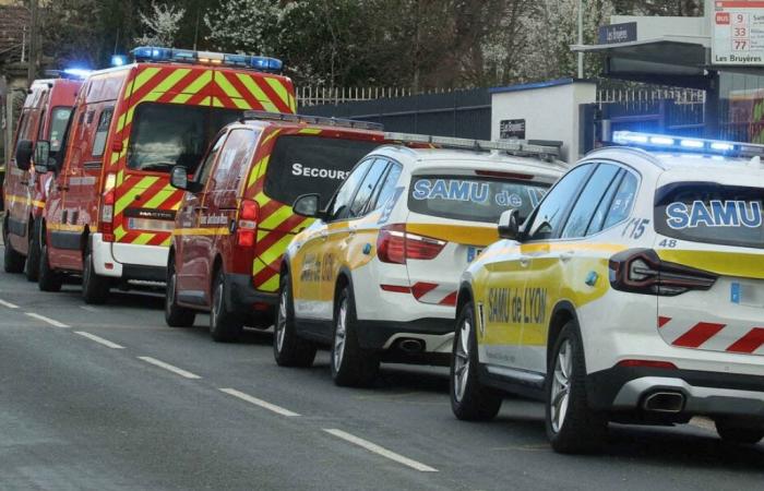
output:
[[[764,145],[755,143],[725,142],[634,131],[614,131],[612,143],[662,152],[692,152],[729,157],[764,157]]]

